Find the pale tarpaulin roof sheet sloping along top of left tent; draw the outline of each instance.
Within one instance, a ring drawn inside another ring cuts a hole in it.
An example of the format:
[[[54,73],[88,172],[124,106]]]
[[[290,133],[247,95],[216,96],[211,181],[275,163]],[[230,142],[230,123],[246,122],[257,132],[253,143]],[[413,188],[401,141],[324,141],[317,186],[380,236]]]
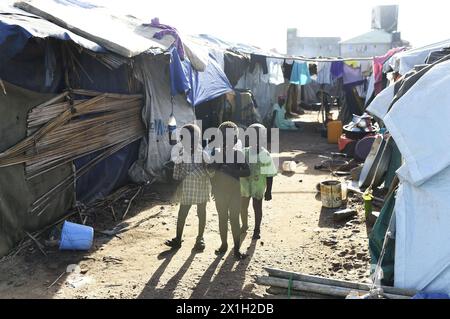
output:
[[[177,33],[155,38],[161,28],[152,26],[150,21],[113,12],[89,1],[27,0],[14,5],[128,58],[150,51],[162,53],[179,40],[193,66],[200,71],[206,67],[205,52],[190,43],[188,37]]]

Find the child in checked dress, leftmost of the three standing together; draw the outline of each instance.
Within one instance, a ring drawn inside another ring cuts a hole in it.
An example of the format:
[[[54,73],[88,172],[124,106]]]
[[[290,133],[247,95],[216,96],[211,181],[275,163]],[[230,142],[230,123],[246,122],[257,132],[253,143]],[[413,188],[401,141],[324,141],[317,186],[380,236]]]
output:
[[[201,145],[200,128],[194,124],[187,124],[183,128],[188,137],[184,138],[183,136],[181,153],[177,154],[179,156],[177,157],[173,170],[173,178],[181,181],[177,190],[177,198],[180,202],[177,232],[176,237],[166,241],[165,244],[172,249],[179,249],[181,247],[187,215],[191,206],[197,205],[198,236],[194,249],[203,251],[205,249],[203,234],[206,225],[206,203],[210,198],[211,174],[204,161],[205,155]],[[187,154],[188,156],[186,157]]]

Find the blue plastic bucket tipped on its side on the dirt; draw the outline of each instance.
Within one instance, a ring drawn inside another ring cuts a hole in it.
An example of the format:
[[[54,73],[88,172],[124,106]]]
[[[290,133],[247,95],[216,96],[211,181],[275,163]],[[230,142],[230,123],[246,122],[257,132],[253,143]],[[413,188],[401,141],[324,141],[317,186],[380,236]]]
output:
[[[89,226],[64,222],[60,250],[89,250],[94,240],[94,229]]]

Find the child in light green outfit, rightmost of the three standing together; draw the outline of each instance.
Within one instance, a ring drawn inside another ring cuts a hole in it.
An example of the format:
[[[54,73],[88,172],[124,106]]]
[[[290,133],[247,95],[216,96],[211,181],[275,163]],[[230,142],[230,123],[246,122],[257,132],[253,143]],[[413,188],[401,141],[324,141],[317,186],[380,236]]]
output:
[[[267,137],[267,130],[261,124],[253,124],[249,129],[256,131],[256,143],[244,149],[244,154],[250,166],[250,176],[241,178],[241,233],[248,230],[248,206],[250,198],[253,198],[253,210],[255,211],[255,229],[253,239],[261,238],[262,202],[272,200],[273,177],[278,170],[268,150],[261,146],[262,139]]]

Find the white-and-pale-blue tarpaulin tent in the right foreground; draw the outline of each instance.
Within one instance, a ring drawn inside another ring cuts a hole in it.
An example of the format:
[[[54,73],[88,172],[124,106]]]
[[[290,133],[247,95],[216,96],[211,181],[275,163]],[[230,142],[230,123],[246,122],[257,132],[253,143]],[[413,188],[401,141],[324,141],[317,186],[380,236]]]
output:
[[[450,117],[449,74],[447,60],[411,75],[378,113],[404,160],[394,208],[400,288],[450,293],[450,249],[443,244],[450,240],[450,135],[443,120]]]

